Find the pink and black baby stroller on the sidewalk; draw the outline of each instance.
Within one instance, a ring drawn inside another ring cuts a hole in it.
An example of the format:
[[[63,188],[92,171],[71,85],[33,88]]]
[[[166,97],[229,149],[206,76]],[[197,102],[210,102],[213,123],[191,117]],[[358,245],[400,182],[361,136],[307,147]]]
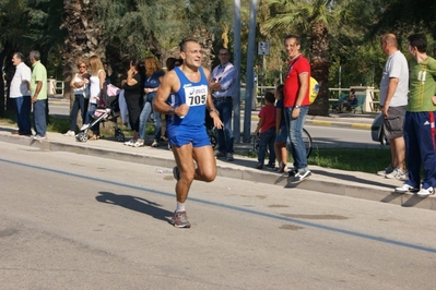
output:
[[[90,124],[75,136],[76,141],[86,142],[87,131],[96,123],[106,121],[114,122],[115,140],[118,142],[125,141],[126,136],[117,123],[117,118],[119,117],[118,96],[120,92],[121,89],[111,84],[105,85],[103,98],[99,99],[97,108],[91,116]]]

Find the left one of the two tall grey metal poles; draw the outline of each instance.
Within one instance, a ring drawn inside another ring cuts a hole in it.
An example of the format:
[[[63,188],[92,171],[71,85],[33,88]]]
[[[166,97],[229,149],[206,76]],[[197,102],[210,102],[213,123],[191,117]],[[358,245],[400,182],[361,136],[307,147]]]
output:
[[[240,0],[234,0],[234,3],[233,64],[237,72],[237,85],[233,100],[233,135],[235,143],[240,143]]]

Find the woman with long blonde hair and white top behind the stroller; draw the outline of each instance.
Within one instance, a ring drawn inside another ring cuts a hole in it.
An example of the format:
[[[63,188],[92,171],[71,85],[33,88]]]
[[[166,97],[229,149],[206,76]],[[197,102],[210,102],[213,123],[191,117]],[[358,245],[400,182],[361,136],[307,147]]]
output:
[[[90,110],[86,114],[85,124],[81,130],[85,130],[90,124],[90,116],[93,116],[99,98],[103,96],[103,86],[106,81],[106,73],[102,63],[102,60],[97,56],[90,58],[91,65],[91,77],[90,77]],[[90,141],[95,141],[99,138],[99,122],[92,126],[93,131]]]

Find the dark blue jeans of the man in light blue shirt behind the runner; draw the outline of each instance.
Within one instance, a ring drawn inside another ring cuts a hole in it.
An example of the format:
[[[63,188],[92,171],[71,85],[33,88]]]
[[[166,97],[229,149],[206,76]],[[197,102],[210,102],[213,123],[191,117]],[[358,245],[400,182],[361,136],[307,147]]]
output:
[[[227,98],[225,100],[213,100],[216,110],[220,112],[221,121],[224,123],[224,128],[216,130],[216,137],[219,143],[219,152],[221,153],[233,153],[233,130],[232,130],[232,110],[233,99]]]

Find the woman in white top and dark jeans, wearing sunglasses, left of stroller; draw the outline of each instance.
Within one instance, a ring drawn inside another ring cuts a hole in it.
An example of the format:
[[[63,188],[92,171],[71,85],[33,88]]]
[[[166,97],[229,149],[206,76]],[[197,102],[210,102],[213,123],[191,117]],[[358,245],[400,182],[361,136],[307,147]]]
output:
[[[82,122],[85,123],[87,104],[89,104],[89,83],[90,74],[87,73],[87,65],[83,60],[78,62],[79,72],[71,78],[70,86],[74,90],[74,101],[70,113],[70,130],[64,133],[64,136],[74,136],[78,129],[79,110],[82,113]]]

